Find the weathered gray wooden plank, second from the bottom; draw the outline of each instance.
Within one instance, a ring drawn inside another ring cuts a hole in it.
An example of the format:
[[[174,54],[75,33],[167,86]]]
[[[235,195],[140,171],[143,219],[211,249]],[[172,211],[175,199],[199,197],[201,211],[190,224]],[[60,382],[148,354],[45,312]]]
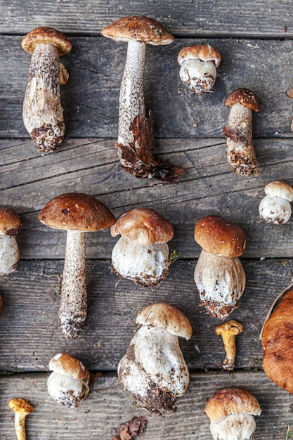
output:
[[[82,358],[91,370],[116,370],[136,328],[138,311],[152,302],[169,302],[193,325],[190,341],[181,348],[190,370],[216,368],[224,358],[221,337],[199,306],[193,281],[196,260],[176,261],[157,287],[138,287],[110,272],[110,261],[87,261],[88,317],[77,341],[67,341],[58,323],[56,293],[63,261],[21,261],[18,270],[1,280],[4,308],[0,319],[0,370],[46,371],[59,351]],[[247,286],[231,318],[244,325],[237,337],[236,368],[261,368],[261,325],[276,295],[289,284],[292,259],[242,260]],[[118,283],[119,281],[119,283]]]

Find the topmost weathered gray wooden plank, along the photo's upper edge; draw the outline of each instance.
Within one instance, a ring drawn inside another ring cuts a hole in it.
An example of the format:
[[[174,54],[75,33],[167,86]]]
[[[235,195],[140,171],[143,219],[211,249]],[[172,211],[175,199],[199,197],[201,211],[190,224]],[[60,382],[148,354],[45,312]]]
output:
[[[53,26],[67,33],[99,34],[110,22],[125,15],[148,15],[178,35],[266,35],[292,37],[289,0],[101,1],[86,4],[66,0],[39,8],[33,0],[1,0],[0,32],[26,33],[36,26]],[[286,27],[286,33],[285,29]]]

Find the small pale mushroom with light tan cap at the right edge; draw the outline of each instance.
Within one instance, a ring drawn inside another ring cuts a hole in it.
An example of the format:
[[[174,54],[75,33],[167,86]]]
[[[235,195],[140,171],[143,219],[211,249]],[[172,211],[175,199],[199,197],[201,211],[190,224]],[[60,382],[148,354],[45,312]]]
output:
[[[287,223],[292,214],[293,188],[288,183],[274,181],[264,187],[266,196],[259,204],[259,216],[274,225]]]

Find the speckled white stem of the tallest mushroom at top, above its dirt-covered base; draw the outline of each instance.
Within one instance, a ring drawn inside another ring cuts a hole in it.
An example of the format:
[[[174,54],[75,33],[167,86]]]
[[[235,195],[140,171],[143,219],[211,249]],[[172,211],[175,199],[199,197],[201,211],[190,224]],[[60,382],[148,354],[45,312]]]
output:
[[[117,143],[129,145],[134,141],[130,126],[138,115],[145,115],[143,77],[145,71],[145,43],[130,40],[119,97]]]

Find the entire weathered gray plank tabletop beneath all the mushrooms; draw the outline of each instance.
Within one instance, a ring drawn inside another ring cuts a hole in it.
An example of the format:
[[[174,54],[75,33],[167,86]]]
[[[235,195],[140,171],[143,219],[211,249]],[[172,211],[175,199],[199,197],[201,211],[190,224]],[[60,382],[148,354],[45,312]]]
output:
[[[17,271],[1,279],[4,307],[0,319],[0,438],[15,438],[8,400],[29,399],[27,439],[111,439],[121,422],[144,415],[141,439],[211,439],[204,413],[207,397],[220,387],[241,386],[259,400],[254,439],[285,439],[293,429],[293,397],[273,384],[261,367],[261,325],[275,296],[293,273],[293,220],[270,226],[259,219],[263,187],[273,180],[293,184],[292,100],[293,17],[289,0],[72,0],[42,3],[1,0],[0,18],[0,190],[1,205],[13,207],[22,223]],[[147,47],[145,101],[155,120],[157,155],[185,169],[177,184],[135,179],[119,165],[117,138],[119,86],[126,44],[100,37],[100,30],[124,15],[148,15],[162,22],[175,41]],[[54,154],[40,154],[22,124],[22,100],[30,56],[20,41],[40,25],[56,27],[72,41],[62,61],[70,80],[62,87],[67,137]],[[184,46],[209,43],[222,62],[214,93],[201,99],[185,89],[176,57]],[[261,109],[253,115],[259,177],[230,171],[223,127],[224,100],[238,87],[252,89]],[[87,285],[89,313],[77,341],[58,328],[58,279],[63,270],[65,233],[39,223],[40,209],[65,192],[96,196],[115,216],[134,207],[152,207],[174,225],[171,250],[181,252],[169,276],[154,288],[137,287],[111,273],[116,241],[109,230],[89,233]],[[241,258],[247,286],[231,318],[244,325],[237,338],[233,373],[215,365],[223,360],[219,319],[199,307],[193,271],[200,247],[195,223],[208,214],[240,224],[247,233]],[[136,408],[117,380],[117,364],[134,335],[136,313],[151,302],[169,302],[193,325],[181,342],[190,385],[175,413],[164,418]],[[82,406],[69,410],[48,395],[48,361],[59,351],[82,360],[91,383]]]

